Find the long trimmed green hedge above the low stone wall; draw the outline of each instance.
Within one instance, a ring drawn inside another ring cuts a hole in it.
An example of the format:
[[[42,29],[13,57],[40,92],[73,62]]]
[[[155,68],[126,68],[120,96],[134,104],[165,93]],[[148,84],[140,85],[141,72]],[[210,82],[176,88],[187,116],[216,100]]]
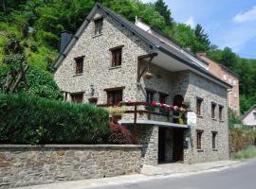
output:
[[[0,94],[0,144],[101,144],[108,112],[24,94]]]

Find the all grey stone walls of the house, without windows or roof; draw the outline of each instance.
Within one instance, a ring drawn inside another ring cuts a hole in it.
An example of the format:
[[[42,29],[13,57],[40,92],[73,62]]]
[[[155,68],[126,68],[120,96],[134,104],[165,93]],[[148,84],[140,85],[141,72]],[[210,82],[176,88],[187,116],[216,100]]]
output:
[[[182,95],[185,101],[189,101],[191,110],[196,110],[196,97],[203,100],[202,115],[197,117],[197,126],[186,129],[184,141],[189,143],[184,149],[185,163],[200,163],[229,158],[229,134],[228,134],[228,101],[227,88],[210,80],[207,77],[199,76],[192,70],[180,69],[170,71],[157,66],[153,59],[149,65],[154,77],[147,79],[141,77],[137,83],[137,58],[153,52],[151,46],[144,43],[135,33],[122,26],[113,17],[101,12],[98,9],[93,18],[103,16],[102,34],[94,35],[93,20],[83,30],[82,36],[71,48],[70,52],[62,62],[62,65],[55,73],[55,80],[59,87],[67,92],[67,100],[70,94],[83,93],[83,102],[91,94],[91,86],[94,85],[95,94],[99,98],[98,104],[106,104],[107,94],[104,89],[122,87],[122,100],[145,102],[146,89],[152,89],[154,100],[159,101],[159,93],[168,94],[166,103],[173,105],[174,96]],[[111,67],[111,51],[109,49],[123,45],[121,65]],[[75,75],[75,58],[84,56],[83,73]],[[159,56],[159,55],[157,55]],[[159,59],[158,59],[159,60]],[[164,60],[164,59],[163,59]],[[170,64],[173,59],[170,58]],[[145,68],[141,63],[140,69]],[[202,68],[204,69],[204,68]],[[215,80],[216,81],[216,80]],[[216,112],[219,106],[223,106],[223,119],[211,118],[211,103],[216,104]],[[126,107],[133,111],[133,107]],[[144,106],[137,107],[137,110],[145,110]],[[158,110],[155,110],[157,112]],[[134,121],[134,113],[125,113],[122,120]],[[149,120],[147,113],[137,113],[137,120]],[[166,116],[151,115],[151,120],[168,122]],[[142,145],[142,156],[144,163],[157,164],[158,155],[158,128],[159,126],[145,125],[137,126],[138,143]],[[202,149],[196,148],[196,130],[203,130]],[[216,132],[216,148],[211,147],[211,133]],[[168,146],[166,160],[172,161],[174,155],[174,142],[172,132],[168,134]]]

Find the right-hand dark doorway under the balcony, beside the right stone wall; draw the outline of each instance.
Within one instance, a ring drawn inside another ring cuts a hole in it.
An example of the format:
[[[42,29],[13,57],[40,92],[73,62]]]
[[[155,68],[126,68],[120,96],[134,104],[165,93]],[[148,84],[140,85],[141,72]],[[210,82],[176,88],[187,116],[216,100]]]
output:
[[[183,129],[174,129],[174,162],[183,161]]]

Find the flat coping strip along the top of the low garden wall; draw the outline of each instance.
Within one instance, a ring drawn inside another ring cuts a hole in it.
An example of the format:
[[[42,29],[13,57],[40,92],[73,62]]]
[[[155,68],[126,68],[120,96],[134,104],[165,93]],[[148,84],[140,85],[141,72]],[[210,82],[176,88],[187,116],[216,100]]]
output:
[[[2,148],[141,148],[139,145],[0,145]]]

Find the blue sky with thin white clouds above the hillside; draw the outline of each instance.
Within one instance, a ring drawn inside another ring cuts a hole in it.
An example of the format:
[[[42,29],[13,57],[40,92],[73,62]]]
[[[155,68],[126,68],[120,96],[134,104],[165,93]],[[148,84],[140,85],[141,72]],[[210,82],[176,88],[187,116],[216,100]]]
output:
[[[210,42],[229,46],[240,57],[256,59],[256,0],[164,0],[174,20],[200,24]],[[142,0],[155,2],[155,0]]]

